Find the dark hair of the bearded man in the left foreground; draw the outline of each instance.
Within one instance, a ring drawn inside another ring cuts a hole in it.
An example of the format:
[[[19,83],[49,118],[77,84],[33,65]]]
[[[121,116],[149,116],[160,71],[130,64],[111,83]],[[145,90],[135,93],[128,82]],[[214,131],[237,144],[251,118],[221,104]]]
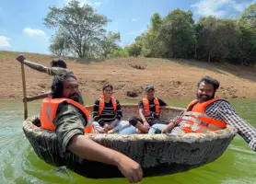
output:
[[[61,75],[55,75],[52,80],[52,98],[63,98],[64,80],[76,76],[70,73],[62,73]]]

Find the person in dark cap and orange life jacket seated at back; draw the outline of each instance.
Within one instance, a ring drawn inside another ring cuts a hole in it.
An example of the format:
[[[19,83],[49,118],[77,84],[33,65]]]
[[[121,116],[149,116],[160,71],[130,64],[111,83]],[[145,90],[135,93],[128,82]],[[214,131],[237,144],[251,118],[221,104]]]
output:
[[[168,123],[160,118],[161,107],[167,106],[167,103],[155,97],[154,86],[145,87],[145,96],[138,103],[140,117],[132,117],[129,120],[132,126],[123,129],[122,134],[147,133],[154,124]]]

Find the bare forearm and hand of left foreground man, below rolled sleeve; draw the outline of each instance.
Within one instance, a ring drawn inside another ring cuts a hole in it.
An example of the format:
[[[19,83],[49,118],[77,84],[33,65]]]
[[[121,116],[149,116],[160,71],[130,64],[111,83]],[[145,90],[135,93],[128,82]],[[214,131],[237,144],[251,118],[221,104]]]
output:
[[[87,160],[98,161],[119,168],[130,182],[139,182],[143,178],[142,168],[131,158],[104,147],[84,135],[75,135],[68,145],[68,150]]]

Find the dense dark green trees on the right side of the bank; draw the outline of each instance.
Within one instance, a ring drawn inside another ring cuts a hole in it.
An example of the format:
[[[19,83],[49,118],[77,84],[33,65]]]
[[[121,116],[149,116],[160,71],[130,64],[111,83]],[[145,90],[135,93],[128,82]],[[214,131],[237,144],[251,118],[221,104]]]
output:
[[[131,55],[145,57],[227,61],[254,65],[256,59],[256,4],[239,18],[200,17],[179,8],[166,17],[155,13],[145,33],[127,47]]]

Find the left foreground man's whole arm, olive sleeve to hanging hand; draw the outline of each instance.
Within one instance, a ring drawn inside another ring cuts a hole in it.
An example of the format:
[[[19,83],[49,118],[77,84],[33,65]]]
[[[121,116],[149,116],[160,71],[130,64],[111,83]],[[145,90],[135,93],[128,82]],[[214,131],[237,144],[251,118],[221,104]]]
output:
[[[82,158],[117,166],[130,182],[142,179],[143,171],[134,160],[84,136],[87,119],[75,106],[63,102],[59,104],[56,114],[53,123],[62,152],[69,150]]]

